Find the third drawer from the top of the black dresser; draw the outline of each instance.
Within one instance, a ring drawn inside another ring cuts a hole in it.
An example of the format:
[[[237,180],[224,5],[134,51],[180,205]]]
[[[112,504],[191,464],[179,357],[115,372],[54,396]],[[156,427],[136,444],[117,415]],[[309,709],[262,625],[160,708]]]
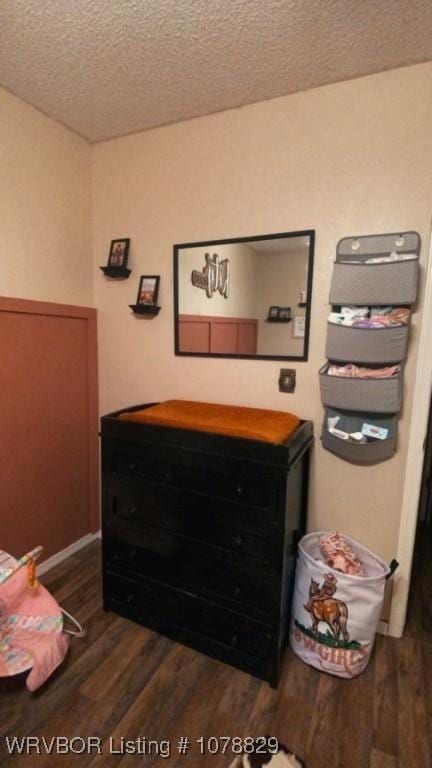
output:
[[[107,568],[192,591],[262,621],[279,616],[280,578],[262,565],[250,563],[247,568],[238,558],[209,556],[182,544],[173,547],[172,542],[151,535],[146,546],[104,536],[103,557]]]

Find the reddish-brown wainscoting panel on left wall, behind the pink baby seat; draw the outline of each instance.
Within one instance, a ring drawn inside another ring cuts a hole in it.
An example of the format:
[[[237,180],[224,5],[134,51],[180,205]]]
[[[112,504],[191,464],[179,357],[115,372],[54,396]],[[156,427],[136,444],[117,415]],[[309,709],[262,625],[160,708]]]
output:
[[[0,297],[0,548],[99,528],[96,310]]]

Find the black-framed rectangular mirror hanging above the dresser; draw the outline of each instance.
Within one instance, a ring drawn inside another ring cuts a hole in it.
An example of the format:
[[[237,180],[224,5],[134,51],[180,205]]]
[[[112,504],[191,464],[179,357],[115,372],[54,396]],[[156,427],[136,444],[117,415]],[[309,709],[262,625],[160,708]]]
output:
[[[307,360],[315,230],[174,246],[175,354]]]

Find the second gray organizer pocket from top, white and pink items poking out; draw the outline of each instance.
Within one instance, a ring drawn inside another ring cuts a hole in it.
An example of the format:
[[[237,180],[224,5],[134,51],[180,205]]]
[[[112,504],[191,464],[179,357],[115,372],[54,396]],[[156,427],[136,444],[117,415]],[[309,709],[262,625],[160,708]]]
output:
[[[407,325],[353,328],[328,323],[325,355],[347,363],[400,363],[407,344]]]

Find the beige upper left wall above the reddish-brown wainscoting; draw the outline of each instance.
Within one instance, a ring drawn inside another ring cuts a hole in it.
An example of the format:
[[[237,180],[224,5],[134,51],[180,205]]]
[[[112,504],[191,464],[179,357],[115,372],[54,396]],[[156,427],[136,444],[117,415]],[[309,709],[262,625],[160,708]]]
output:
[[[90,156],[87,142],[0,89],[3,296],[93,304]]]

